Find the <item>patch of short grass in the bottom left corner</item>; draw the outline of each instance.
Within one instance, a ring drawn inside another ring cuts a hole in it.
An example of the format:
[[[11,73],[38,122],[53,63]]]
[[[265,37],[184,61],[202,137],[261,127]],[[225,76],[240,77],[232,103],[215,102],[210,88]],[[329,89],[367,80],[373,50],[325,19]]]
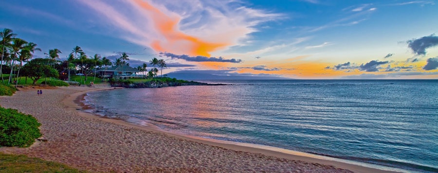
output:
[[[85,173],[67,165],[24,155],[0,153],[0,173]]]

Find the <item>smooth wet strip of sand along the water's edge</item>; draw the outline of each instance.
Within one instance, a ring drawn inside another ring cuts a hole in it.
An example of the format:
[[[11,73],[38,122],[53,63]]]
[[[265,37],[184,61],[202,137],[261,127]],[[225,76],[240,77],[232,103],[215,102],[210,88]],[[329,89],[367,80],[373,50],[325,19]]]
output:
[[[90,91],[90,92],[95,92],[95,91]],[[251,143],[241,143],[241,142],[234,142],[234,141],[225,141],[225,140],[218,140],[218,139],[201,138],[201,137],[190,136],[190,135],[185,135],[185,134],[172,133],[169,131],[162,130],[162,129],[154,126],[153,124],[148,124],[148,125],[151,125],[152,127],[151,126],[142,126],[139,124],[129,123],[129,122],[124,121],[123,119],[119,119],[119,118],[110,118],[110,117],[107,118],[105,116],[101,116],[101,115],[93,113],[93,112],[84,111],[87,109],[92,109],[89,105],[83,103],[83,101],[85,101],[84,97],[86,95],[87,95],[87,93],[78,95],[77,98],[75,100],[73,100],[73,102],[75,104],[77,104],[78,106],[83,108],[82,111],[81,110],[79,110],[79,111],[81,111],[85,114],[90,114],[88,116],[94,116],[94,117],[97,117],[98,119],[102,119],[103,121],[114,120],[114,121],[109,121],[109,122],[129,126],[129,127],[139,128],[139,129],[145,130],[145,131],[164,133],[165,135],[168,135],[171,137],[181,138],[184,140],[190,140],[190,141],[194,141],[194,142],[200,142],[200,143],[204,143],[207,145],[226,148],[226,149],[230,149],[230,150],[234,150],[234,151],[250,152],[250,153],[255,153],[255,154],[263,154],[263,155],[267,155],[267,156],[274,156],[274,157],[286,158],[286,159],[291,159],[291,160],[300,160],[300,161],[305,161],[305,162],[309,162],[309,163],[331,165],[331,166],[334,166],[336,168],[347,169],[347,170],[357,172],[357,173],[369,173],[369,172],[373,172],[373,173],[386,173],[386,172],[399,173],[399,172],[406,171],[406,170],[402,170],[399,168],[393,168],[393,167],[388,167],[388,166],[383,166],[383,165],[354,161],[354,160],[347,160],[347,159],[342,159],[342,158],[293,151],[293,150],[288,150],[288,149],[283,149],[283,148],[278,148],[278,147],[271,147],[271,146],[251,144]],[[87,116],[87,115],[85,115],[85,116]]]

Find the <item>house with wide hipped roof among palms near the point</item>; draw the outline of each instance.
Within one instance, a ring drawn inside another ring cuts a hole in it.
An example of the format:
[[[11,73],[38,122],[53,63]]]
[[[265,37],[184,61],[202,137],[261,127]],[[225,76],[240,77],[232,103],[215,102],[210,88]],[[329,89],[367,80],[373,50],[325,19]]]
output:
[[[138,69],[129,67],[126,64],[119,64],[113,67],[102,68],[96,71],[103,79],[129,79],[142,78],[143,75],[137,75],[140,72]]]

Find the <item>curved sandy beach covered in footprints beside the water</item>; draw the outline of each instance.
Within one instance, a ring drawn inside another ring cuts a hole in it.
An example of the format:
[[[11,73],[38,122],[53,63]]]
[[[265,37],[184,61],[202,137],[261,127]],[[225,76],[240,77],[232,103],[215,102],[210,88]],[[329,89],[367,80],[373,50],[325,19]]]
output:
[[[0,96],[0,105],[31,114],[41,122],[45,142],[30,148],[0,148],[97,172],[386,172],[335,160],[293,155],[232,143],[169,134],[80,111],[74,102],[109,87],[20,89]]]

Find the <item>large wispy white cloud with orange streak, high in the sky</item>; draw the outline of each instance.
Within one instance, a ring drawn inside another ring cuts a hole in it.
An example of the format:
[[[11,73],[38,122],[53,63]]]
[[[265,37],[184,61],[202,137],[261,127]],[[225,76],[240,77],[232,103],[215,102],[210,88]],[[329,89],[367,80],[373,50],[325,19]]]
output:
[[[246,7],[235,1],[81,0],[112,26],[126,31],[124,39],[156,52],[210,56],[210,52],[237,45],[256,32],[254,26],[280,14]],[[206,41],[214,40],[214,41]]]

